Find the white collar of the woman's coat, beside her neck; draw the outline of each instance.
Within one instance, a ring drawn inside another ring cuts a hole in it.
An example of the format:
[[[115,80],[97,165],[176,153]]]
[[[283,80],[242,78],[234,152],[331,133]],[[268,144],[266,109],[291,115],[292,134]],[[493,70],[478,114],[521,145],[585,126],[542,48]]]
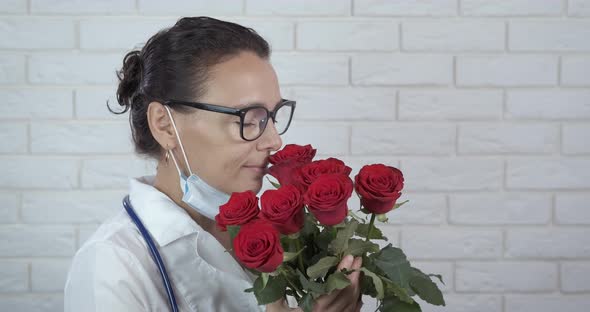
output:
[[[182,207],[153,186],[154,179],[154,175],[131,178],[129,200],[158,245],[203,231]]]

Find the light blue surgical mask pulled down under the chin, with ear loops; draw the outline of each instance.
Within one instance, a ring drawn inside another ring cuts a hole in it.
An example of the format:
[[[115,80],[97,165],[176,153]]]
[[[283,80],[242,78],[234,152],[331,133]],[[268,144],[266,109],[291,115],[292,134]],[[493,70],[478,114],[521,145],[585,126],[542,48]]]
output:
[[[172,151],[167,151],[167,153],[170,153],[170,157],[174,161],[176,170],[178,170],[178,176],[180,177],[180,189],[182,190],[183,194],[182,201],[203,216],[211,220],[215,220],[215,216],[219,213],[219,206],[227,203],[230,195],[221,192],[220,190],[209,185],[191,170],[191,165],[188,163],[182,141],[180,140],[180,134],[178,133],[176,124],[172,118],[172,113],[170,113],[168,106],[164,105],[164,108],[166,108],[168,116],[170,116],[172,127],[174,128],[176,138],[178,139],[178,143],[180,145],[180,150],[182,151],[182,156],[184,157],[184,162],[186,163],[188,172],[190,173],[190,176],[188,177],[182,173],[180,171],[180,167],[178,166],[178,162],[174,157],[174,153],[172,153]]]

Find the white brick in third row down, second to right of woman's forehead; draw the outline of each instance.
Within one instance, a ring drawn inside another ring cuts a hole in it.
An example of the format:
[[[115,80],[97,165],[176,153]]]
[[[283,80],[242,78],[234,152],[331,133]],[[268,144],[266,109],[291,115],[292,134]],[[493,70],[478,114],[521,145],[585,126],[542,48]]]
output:
[[[447,85],[452,59],[445,55],[362,54],[352,57],[356,85]]]

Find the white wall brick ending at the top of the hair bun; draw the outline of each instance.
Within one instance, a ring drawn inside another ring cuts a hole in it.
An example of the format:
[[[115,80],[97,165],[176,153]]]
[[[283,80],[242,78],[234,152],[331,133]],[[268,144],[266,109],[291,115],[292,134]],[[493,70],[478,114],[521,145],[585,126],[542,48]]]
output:
[[[28,75],[34,84],[113,84],[122,62],[119,53],[34,54]]]

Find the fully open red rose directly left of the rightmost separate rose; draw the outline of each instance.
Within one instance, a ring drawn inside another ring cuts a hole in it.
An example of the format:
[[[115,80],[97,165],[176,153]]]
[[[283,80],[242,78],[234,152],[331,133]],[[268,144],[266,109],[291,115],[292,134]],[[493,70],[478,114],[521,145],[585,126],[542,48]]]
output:
[[[347,175],[325,174],[309,186],[303,201],[321,224],[336,225],[348,214],[347,201],[352,189],[352,180]]]

